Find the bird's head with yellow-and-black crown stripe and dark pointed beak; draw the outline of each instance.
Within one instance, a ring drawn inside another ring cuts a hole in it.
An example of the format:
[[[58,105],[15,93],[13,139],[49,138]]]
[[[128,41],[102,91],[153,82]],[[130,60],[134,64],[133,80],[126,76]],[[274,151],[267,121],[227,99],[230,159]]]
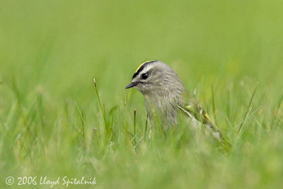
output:
[[[158,60],[139,65],[126,88],[137,88],[144,95],[165,96],[168,93],[183,91],[184,87],[176,72]]]

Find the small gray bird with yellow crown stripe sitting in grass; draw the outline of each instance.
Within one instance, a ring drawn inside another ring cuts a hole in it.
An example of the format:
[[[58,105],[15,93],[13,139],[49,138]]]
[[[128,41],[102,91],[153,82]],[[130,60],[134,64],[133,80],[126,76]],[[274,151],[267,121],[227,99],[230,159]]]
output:
[[[144,95],[146,112],[150,119],[153,113],[160,112],[164,130],[176,125],[178,113],[184,113],[190,118],[191,125],[205,125],[214,137],[224,141],[209,115],[190,96],[178,74],[167,64],[158,60],[142,63],[134,72],[132,82],[126,89],[132,87]]]

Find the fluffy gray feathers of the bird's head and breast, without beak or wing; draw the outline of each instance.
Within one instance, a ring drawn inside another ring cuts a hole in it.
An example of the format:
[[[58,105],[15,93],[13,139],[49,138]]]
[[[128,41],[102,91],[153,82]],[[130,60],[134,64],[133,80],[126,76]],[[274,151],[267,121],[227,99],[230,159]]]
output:
[[[141,75],[148,73],[147,79],[142,79]],[[186,91],[182,81],[176,72],[163,62],[156,61],[147,63],[146,67],[132,79],[134,86],[144,95],[146,112],[149,118],[151,111],[161,110],[163,125],[167,126],[176,123],[177,103],[181,102],[182,93]]]

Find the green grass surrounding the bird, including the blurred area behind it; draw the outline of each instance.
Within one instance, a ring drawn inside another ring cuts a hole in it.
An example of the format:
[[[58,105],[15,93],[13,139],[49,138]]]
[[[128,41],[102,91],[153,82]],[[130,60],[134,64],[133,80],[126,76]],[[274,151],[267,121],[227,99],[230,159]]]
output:
[[[0,188],[17,186],[7,176],[96,176],[93,188],[283,184],[281,1],[0,3]],[[183,122],[166,135],[146,123],[144,98],[125,86],[149,59],[178,72],[229,151]]]

